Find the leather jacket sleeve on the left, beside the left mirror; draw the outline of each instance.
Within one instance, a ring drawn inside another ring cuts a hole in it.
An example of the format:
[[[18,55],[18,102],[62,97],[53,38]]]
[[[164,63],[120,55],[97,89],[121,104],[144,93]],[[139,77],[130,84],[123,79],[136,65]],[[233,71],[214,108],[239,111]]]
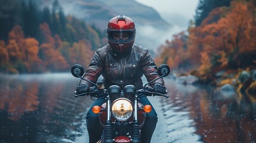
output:
[[[96,51],[94,56],[92,57],[90,65],[83,77],[87,80],[90,80],[91,82],[96,83],[98,80],[98,77],[100,77],[102,67],[103,67],[103,61],[101,60],[100,54],[98,53],[98,51]],[[81,80],[80,85],[81,84],[88,84],[88,85],[92,86],[91,83],[89,83],[85,80]]]

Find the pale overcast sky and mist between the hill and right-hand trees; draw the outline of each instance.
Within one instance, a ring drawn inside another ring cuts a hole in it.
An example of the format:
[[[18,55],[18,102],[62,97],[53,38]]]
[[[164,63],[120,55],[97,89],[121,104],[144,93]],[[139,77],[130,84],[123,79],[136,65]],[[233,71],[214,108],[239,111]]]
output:
[[[154,8],[161,17],[171,24],[169,29],[156,30],[154,27],[138,27],[137,43],[141,43],[146,48],[157,51],[157,47],[164,45],[166,40],[171,40],[172,35],[187,30],[189,21],[194,20],[196,7],[199,0],[135,0],[148,7]],[[139,32],[143,32],[140,37]]]

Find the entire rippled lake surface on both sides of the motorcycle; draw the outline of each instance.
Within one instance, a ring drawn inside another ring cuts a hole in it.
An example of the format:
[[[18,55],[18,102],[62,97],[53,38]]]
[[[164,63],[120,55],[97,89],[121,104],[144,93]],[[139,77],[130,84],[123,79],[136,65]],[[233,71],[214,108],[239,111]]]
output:
[[[150,97],[158,112],[152,142],[256,142],[254,97],[165,79],[170,98]],[[74,98],[69,73],[0,75],[1,142],[88,142],[92,100]]]

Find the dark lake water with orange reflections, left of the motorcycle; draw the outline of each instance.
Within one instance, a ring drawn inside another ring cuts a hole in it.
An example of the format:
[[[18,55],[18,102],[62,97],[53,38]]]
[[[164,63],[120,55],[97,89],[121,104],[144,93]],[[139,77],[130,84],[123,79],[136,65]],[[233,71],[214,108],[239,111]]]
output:
[[[78,81],[70,74],[1,76],[0,141],[75,141],[91,104],[73,97]]]

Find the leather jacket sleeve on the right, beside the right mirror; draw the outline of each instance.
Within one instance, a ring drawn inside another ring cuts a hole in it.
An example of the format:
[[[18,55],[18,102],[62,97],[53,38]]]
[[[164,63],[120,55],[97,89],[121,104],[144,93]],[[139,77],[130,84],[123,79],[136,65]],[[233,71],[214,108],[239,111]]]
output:
[[[157,70],[158,67],[156,67],[156,64],[155,64],[153,58],[151,57],[148,49],[143,58],[142,66],[143,66],[143,73],[147,78],[147,82],[150,82],[159,77],[158,70]],[[156,80],[153,83],[160,83],[161,85],[165,85],[164,80],[162,78]],[[151,83],[151,84],[153,84],[153,83]]]

